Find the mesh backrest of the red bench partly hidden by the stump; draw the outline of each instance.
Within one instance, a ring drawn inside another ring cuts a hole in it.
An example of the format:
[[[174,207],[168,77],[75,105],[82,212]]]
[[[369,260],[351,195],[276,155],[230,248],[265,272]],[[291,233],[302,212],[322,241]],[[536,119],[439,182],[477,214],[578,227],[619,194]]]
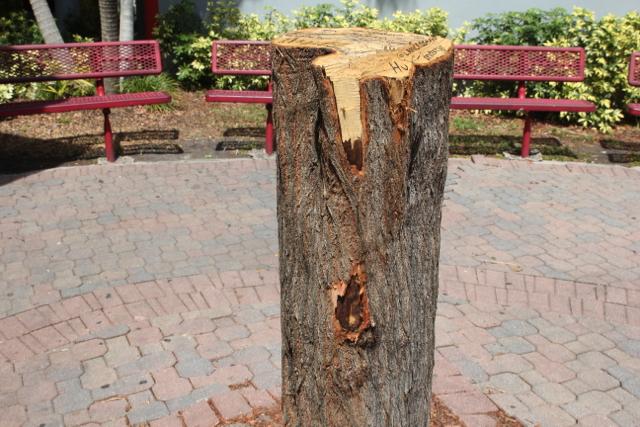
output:
[[[271,43],[267,41],[216,40],[211,45],[214,74],[271,75]]]

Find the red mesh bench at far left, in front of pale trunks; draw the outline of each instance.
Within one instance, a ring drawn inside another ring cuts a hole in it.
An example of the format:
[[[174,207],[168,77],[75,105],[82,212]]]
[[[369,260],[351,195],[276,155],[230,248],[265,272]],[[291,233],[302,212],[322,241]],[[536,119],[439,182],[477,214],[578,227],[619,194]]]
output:
[[[110,109],[164,104],[171,102],[171,97],[164,92],[106,95],[103,79],[159,74],[161,71],[160,48],[156,41],[0,46],[0,83],[96,80],[95,96],[0,104],[0,116],[101,109],[105,154],[112,162],[116,159],[116,151],[109,121]]]

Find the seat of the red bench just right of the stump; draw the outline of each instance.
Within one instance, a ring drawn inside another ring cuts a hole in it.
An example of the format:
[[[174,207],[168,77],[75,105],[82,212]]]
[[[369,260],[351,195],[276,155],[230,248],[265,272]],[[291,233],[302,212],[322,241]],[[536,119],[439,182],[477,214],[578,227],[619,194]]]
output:
[[[453,97],[454,110],[568,111],[591,113],[595,104],[572,99]]]

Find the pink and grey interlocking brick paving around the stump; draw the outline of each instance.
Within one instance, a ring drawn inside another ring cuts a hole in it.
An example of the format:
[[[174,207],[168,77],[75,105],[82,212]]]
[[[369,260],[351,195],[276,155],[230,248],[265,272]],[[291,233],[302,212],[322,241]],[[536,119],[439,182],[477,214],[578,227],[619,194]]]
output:
[[[640,419],[640,171],[450,161],[434,393],[469,426]],[[0,425],[280,398],[273,160],[0,176]]]

